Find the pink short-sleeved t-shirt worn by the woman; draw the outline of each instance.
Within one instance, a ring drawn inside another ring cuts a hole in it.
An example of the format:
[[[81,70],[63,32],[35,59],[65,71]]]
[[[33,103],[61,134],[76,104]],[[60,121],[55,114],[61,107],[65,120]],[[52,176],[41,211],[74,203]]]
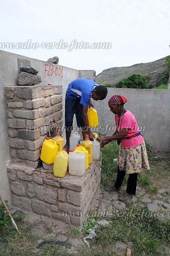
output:
[[[115,123],[118,125],[117,115],[115,115]],[[126,137],[129,137],[135,133],[140,132],[139,127],[137,125],[137,121],[135,119],[135,116],[132,114],[131,111],[127,110],[123,116],[120,117],[120,123],[118,126],[118,133],[120,133],[120,130],[122,128],[128,128]],[[140,145],[142,142],[144,142],[144,139],[141,135],[133,137],[131,139],[121,139],[121,146],[123,148],[132,148],[135,146]]]

